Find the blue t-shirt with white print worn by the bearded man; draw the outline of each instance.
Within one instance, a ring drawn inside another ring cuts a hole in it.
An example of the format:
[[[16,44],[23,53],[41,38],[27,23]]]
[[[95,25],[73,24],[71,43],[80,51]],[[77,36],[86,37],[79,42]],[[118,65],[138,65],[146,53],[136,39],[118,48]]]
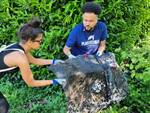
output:
[[[100,41],[106,40],[106,38],[105,23],[99,21],[90,31],[85,30],[83,23],[80,23],[70,32],[66,46],[71,47],[71,53],[75,56],[93,55],[97,52]]]

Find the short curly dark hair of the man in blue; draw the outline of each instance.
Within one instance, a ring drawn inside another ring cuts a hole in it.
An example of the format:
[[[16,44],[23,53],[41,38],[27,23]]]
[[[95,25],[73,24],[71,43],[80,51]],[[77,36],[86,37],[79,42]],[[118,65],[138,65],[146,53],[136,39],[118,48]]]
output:
[[[99,4],[96,4],[94,2],[87,2],[84,4],[81,8],[82,12],[92,12],[95,13],[96,15],[100,14],[101,7]]]

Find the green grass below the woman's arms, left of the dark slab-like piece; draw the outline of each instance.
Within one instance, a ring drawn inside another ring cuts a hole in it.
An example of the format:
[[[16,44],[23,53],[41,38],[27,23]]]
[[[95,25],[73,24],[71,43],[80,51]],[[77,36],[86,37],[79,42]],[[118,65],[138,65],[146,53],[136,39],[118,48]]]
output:
[[[10,113],[66,113],[66,98],[60,86],[29,88],[23,82],[0,83],[10,104]]]

